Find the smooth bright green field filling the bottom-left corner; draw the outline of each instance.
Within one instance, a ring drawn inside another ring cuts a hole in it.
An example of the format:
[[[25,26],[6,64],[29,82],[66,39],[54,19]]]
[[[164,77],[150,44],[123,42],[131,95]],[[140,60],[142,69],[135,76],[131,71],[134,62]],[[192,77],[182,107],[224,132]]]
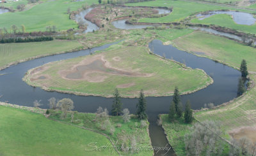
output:
[[[88,147],[92,142],[107,145],[110,141],[105,136],[54,122],[44,115],[0,106],[0,118],[1,155],[118,155]]]

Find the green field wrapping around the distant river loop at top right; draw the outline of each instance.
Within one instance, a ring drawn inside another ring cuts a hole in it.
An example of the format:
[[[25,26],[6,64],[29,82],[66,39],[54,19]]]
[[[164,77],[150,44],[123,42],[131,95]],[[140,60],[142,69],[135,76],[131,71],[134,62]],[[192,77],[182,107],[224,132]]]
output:
[[[143,3],[131,3],[127,4],[129,6],[173,6],[173,11],[170,15],[161,17],[161,18],[142,18],[139,22],[177,22],[188,17],[191,14],[207,11],[207,10],[222,10],[230,9],[222,6],[213,6],[207,4],[186,2],[186,1],[166,1],[166,0],[156,0],[156,1],[147,1]],[[236,10],[236,9],[234,9]]]

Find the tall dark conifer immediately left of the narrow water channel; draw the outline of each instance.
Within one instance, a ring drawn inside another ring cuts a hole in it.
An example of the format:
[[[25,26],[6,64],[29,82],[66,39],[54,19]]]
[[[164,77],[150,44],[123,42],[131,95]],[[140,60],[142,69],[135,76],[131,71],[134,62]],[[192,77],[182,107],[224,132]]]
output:
[[[138,118],[140,118],[140,120],[146,119],[147,118],[147,114],[146,114],[147,103],[146,103],[142,89],[140,91],[139,103],[137,104],[137,108],[138,108],[138,110],[137,110]]]

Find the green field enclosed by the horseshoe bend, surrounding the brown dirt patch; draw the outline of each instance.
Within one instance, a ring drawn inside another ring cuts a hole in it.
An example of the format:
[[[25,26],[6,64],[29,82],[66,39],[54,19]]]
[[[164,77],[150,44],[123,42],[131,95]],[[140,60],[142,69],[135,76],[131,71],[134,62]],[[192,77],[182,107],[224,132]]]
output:
[[[126,43],[124,42],[124,44]],[[63,77],[63,74],[61,76],[58,73],[59,71],[71,69],[72,66],[82,60],[87,62],[99,57],[104,58],[104,61],[107,61],[107,64],[110,64],[114,69],[131,71],[132,73],[145,74],[147,76],[136,76],[138,74],[134,74],[134,76],[109,74],[109,69],[106,69],[105,73],[86,74],[86,77],[92,80],[73,80],[67,79],[65,76]],[[118,60],[115,60],[116,57]],[[212,81],[201,70],[182,67],[171,60],[164,60],[155,55],[150,55],[144,46],[126,46],[122,45],[122,43],[113,45],[108,50],[96,53],[95,55],[52,62],[44,67],[46,67],[44,71],[36,74],[31,75],[30,71],[25,78],[26,82],[31,85],[47,86],[52,90],[106,97],[112,96],[111,90],[114,90],[116,87],[120,90],[123,97],[136,97],[141,89],[144,90],[147,96],[170,96],[173,94],[175,86],[179,86],[180,92],[185,94],[192,90],[202,89],[202,87],[207,86]],[[30,81],[30,78],[36,78],[40,75],[51,76],[44,80]],[[102,77],[104,77],[104,80],[90,82]]]

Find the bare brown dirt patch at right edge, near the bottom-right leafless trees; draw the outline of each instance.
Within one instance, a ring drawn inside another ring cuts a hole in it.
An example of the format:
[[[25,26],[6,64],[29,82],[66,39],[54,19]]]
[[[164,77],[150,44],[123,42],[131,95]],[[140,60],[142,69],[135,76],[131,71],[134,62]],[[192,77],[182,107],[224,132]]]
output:
[[[253,143],[256,143],[256,126],[233,129],[229,132],[229,135],[237,140],[245,136],[246,138],[251,139]]]

